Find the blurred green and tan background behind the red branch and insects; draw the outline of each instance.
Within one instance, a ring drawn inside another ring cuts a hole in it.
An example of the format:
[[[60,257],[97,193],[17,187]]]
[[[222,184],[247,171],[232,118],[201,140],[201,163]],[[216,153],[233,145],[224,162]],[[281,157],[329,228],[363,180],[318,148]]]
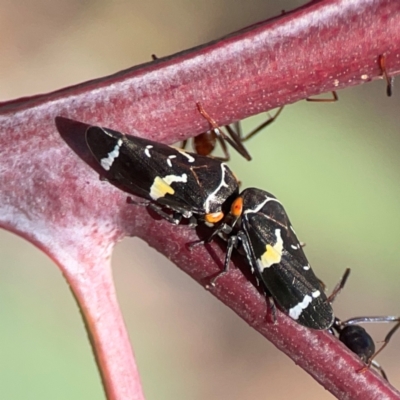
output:
[[[111,74],[304,3],[0,0],[0,100]],[[335,304],[340,318],[400,314],[400,89],[389,99],[376,81],[338,94],[334,104],[287,106],[248,142],[254,160],[233,155],[232,168],[245,187],[283,201],[330,288],[352,268]],[[60,271],[29,243],[0,235],[1,399],[103,399]],[[140,240],[117,246],[113,268],[147,400],[333,398]],[[387,329],[368,326],[377,340]],[[378,358],[397,387],[399,347],[397,335]]]

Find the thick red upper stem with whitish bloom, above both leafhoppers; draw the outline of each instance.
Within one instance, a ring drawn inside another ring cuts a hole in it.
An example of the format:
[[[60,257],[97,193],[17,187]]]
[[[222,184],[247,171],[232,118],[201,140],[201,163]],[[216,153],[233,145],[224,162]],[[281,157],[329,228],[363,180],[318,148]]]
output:
[[[399,11],[391,0],[318,2],[111,77],[3,104],[0,112],[14,125],[61,115],[174,142],[208,128],[198,101],[224,125],[381,77],[381,54],[389,74],[398,73]]]

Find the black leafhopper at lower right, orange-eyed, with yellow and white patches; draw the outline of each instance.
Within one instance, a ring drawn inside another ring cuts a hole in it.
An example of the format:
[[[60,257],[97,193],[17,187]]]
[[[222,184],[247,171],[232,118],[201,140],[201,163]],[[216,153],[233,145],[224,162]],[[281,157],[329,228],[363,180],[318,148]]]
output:
[[[309,328],[332,326],[332,307],[275,196],[261,189],[245,189],[209,240],[221,233],[228,248],[224,272],[219,276],[228,271],[233,249],[240,247],[258,284],[285,313]]]

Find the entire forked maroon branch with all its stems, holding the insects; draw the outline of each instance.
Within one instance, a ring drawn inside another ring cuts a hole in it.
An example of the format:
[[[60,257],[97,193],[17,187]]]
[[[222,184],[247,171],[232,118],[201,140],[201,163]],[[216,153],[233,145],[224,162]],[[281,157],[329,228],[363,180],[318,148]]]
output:
[[[208,128],[196,102],[228,124],[379,78],[381,55],[390,76],[400,71],[400,2],[327,0],[113,76],[1,104],[0,224],[61,268],[109,399],[143,399],[110,273],[115,242],[139,236],[203,285],[221,269],[224,251],[219,243],[189,251],[195,230],[126,204],[126,194],[82,162],[82,124],[57,119],[56,126],[56,117],[172,143]],[[240,269],[211,292],[338,398],[400,399],[374,372],[359,373],[361,361],[332,335],[282,313],[270,323],[265,299]]]

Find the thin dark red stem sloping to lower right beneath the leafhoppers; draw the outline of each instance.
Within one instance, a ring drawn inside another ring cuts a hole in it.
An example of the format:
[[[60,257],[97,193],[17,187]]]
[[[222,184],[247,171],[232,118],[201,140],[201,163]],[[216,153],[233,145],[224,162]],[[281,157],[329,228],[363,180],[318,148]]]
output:
[[[222,249],[199,246],[189,251],[186,243],[198,236],[186,227],[170,229],[166,233],[168,226],[165,221],[143,221],[139,236],[203,286],[207,285],[210,278],[221,271],[225,246]],[[241,258],[235,261],[240,270],[246,269]],[[361,360],[328,332],[304,328],[279,310],[278,323],[271,323],[265,298],[240,270],[232,268],[229,274],[221,277],[216,288],[211,290],[212,294],[310,373],[325,389],[339,399],[400,399],[400,393],[372,369],[359,373],[364,367]]]

